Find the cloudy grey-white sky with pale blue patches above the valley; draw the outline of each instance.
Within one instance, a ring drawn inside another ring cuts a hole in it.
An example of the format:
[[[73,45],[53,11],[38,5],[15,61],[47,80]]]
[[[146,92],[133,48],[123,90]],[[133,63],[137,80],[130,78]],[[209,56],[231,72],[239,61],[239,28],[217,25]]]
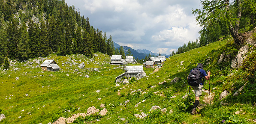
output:
[[[170,54],[201,29],[191,13],[199,0],[65,0],[89,17],[90,25],[122,46]]]

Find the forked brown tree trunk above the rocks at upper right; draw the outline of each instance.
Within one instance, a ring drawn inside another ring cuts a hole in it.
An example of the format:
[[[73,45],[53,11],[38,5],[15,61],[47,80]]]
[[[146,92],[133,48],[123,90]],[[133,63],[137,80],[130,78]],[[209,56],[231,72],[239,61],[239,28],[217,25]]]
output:
[[[240,45],[242,41],[242,35],[241,33],[238,32],[238,29],[239,29],[239,23],[241,19],[242,8],[241,8],[241,0],[236,0],[236,1],[238,4],[237,20],[235,21],[235,28],[233,27],[232,22],[231,21],[229,22],[229,31],[232,37],[235,39],[235,43]],[[226,0],[226,4],[227,4],[227,11],[229,12],[229,0]],[[229,18],[231,18],[230,13],[229,13]]]

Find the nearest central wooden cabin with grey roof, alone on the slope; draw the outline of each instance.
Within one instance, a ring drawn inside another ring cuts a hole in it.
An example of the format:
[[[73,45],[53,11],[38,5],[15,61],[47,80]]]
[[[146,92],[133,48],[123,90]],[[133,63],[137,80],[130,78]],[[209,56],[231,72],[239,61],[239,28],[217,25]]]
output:
[[[125,72],[116,77],[116,82],[120,82],[123,77],[135,77],[140,72],[144,71],[142,65],[126,66]]]

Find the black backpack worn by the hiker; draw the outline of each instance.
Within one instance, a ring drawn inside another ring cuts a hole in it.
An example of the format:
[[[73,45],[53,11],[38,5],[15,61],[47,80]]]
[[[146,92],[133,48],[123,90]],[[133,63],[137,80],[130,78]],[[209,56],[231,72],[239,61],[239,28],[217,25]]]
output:
[[[190,86],[199,86],[199,83],[203,83],[202,77],[200,77],[201,68],[193,68],[190,74],[188,75],[187,82]]]

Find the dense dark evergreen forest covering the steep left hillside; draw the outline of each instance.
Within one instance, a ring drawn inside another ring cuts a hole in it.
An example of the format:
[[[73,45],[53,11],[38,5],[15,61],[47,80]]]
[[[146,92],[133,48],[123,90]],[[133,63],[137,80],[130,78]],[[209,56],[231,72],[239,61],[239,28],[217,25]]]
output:
[[[15,15],[15,16],[14,16]],[[65,0],[0,0],[0,65],[5,56],[26,60],[51,52],[65,56],[115,53],[110,35],[90,25]]]

